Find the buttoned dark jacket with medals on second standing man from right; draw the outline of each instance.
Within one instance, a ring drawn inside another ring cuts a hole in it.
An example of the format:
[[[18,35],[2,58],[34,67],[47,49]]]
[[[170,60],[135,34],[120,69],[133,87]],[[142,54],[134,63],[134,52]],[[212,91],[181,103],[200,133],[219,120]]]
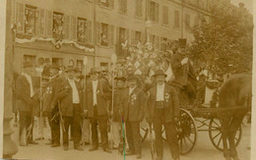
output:
[[[142,89],[138,86],[129,95],[129,88],[124,91],[122,98],[122,108],[124,121],[141,122],[144,119],[144,110],[146,107],[146,96]]]

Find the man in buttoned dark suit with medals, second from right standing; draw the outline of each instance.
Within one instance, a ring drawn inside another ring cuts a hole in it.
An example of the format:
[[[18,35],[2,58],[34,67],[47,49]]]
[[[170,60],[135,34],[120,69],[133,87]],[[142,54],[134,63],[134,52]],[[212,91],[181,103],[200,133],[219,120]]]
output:
[[[137,154],[137,159],[142,158],[142,146],[140,136],[140,123],[144,118],[145,93],[137,86],[137,77],[130,75],[127,79],[128,86],[124,91],[122,108],[124,122],[126,125],[126,135],[129,145],[126,155]]]

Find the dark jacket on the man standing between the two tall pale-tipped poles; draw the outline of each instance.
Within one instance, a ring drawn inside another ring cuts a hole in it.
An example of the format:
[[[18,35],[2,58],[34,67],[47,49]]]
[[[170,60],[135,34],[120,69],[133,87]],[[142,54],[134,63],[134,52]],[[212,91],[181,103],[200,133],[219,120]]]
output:
[[[94,117],[94,92],[93,81],[89,80],[86,84],[84,95],[84,110],[88,110],[88,117]],[[98,80],[96,87],[97,116],[107,115],[107,100],[111,99],[109,85],[104,80]]]

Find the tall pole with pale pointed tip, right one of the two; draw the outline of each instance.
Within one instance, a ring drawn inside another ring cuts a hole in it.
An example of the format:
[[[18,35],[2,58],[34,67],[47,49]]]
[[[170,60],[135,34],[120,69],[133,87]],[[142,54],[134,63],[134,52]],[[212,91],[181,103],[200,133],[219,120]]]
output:
[[[111,112],[113,113],[114,109],[114,71],[115,71],[115,64],[117,61],[116,54],[111,55],[111,61],[113,63],[113,75],[112,75],[112,105],[111,105]],[[113,116],[111,116],[111,122],[110,122],[110,133],[111,133],[111,149],[113,148]]]

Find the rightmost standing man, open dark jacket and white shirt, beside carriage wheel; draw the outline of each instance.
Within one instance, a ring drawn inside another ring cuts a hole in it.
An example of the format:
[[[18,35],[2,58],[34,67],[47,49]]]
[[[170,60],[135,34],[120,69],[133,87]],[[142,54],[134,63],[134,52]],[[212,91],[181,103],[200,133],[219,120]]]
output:
[[[179,118],[179,101],[175,89],[164,82],[165,77],[161,70],[155,74],[157,84],[150,89],[146,119],[150,125],[153,122],[158,160],[162,160],[163,157],[162,126],[165,129],[171,156],[174,160],[178,160],[179,147],[175,121]]]

